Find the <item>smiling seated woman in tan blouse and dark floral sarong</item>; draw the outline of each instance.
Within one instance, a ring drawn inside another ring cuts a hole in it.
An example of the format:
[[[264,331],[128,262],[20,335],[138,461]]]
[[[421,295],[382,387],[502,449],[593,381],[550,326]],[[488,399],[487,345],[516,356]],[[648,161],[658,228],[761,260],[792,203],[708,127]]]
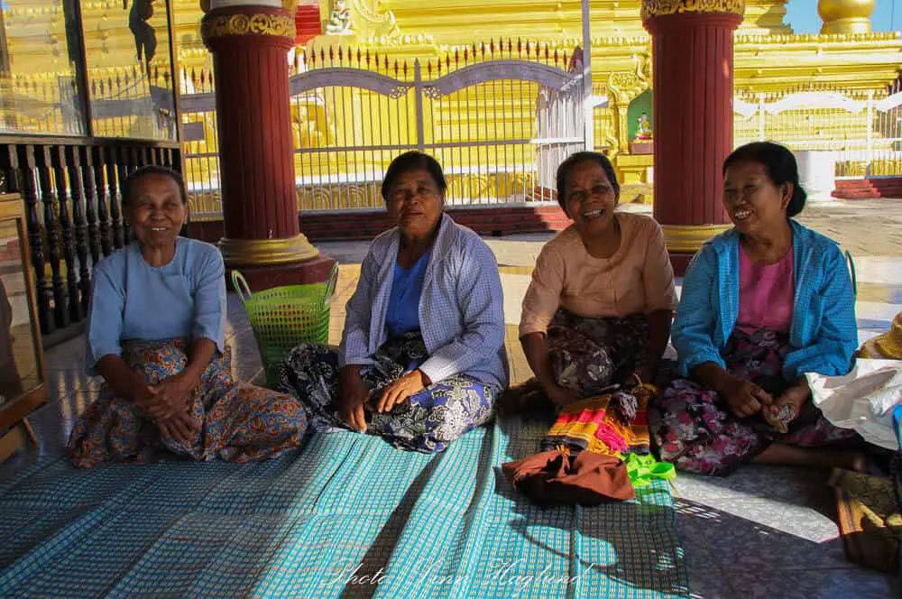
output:
[[[655,378],[676,308],[673,269],[658,223],[614,212],[619,198],[603,154],[578,152],[558,168],[557,201],[574,224],[538,256],[520,319],[535,378],[509,392],[508,410]]]

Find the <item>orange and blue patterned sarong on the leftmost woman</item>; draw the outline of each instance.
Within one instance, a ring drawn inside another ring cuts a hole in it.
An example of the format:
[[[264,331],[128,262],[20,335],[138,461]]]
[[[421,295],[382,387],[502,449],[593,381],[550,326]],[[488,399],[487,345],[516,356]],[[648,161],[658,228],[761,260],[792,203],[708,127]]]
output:
[[[126,343],[122,359],[143,371],[148,384],[157,384],[181,372],[188,364],[189,342],[175,339]],[[72,462],[127,461],[143,457],[145,450],[162,447],[196,460],[219,457],[248,462],[280,455],[298,447],[307,429],[300,402],[231,374],[231,352],[210,361],[198,388],[191,394],[189,413],[196,435],[189,443],[162,438],[152,419],[106,389],[82,414],[69,436]]]

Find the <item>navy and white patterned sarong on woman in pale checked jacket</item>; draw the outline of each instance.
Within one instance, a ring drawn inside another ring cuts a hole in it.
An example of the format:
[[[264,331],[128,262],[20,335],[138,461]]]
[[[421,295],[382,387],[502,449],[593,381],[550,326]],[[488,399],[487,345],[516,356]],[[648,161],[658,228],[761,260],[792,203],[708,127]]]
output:
[[[419,333],[390,339],[373,356],[375,364],[364,366],[361,376],[366,389],[378,391],[428,358]],[[291,350],[281,364],[280,389],[304,403],[315,430],[351,427],[339,412],[338,353],[334,347],[302,344]],[[394,447],[424,453],[443,451],[468,430],[492,419],[494,399],[500,390],[457,374],[433,382],[387,413],[365,410],[366,432],[378,435]]]

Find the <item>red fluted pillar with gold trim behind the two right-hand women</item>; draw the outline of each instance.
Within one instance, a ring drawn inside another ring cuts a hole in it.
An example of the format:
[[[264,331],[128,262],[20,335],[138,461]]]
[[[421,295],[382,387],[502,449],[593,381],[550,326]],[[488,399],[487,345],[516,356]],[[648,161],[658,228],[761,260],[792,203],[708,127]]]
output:
[[[726,229],[723,160],[732,152],[733,32],[743,0],[642,0],[652,35],[655,218],[677,272]]]

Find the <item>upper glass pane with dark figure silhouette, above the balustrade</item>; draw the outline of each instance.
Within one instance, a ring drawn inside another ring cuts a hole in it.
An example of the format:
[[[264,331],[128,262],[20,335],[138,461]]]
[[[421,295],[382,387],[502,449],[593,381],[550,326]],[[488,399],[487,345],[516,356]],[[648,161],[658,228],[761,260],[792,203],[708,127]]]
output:
[[[174,141],[166,3],[83,2],[81,10],[94,134]]]

